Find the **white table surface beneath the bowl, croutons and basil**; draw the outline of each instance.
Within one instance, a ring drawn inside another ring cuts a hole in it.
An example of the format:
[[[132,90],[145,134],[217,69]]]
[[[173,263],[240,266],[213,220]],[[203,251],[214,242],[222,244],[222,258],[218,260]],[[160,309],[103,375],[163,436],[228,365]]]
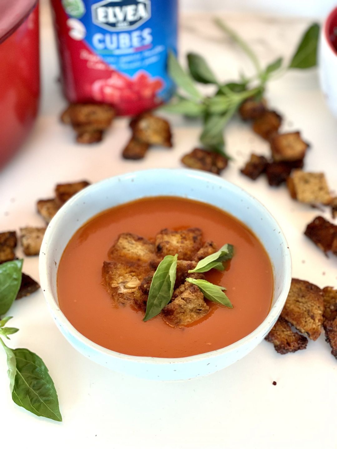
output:
[[[263,62],[289,56],[307,25],[291,21],[227,15],[245,33]],[[57,182],[92,182],[150,167],[180,167],[182,154],[197,144],[200,128],[173,118],[173,151],[151,150],[142,161],[120,158],[129,131],[116,120],[96,146],[76,145],[70,128],[58,121],[65,105],[49,14],[43,10],[41,112],[22,151],[0,172],[0,229],[43,225],[35,201],[48,198]],[[223,79],[249,64],[205,14],[181,18],[181,53],[207,55]],[[270,84],[270,105],[285,117],[284,130],[299,129],[312,145],[306,169],[324,171],[337,191],[337,127],[319,90],[316,70],[289,72]],[[247,189],[284,229],[293,258],[293,276],[320,287],[337,287],[337,258],[324,256],[306,237],[306,224],[321,212],[294,202],[285,187],[271,189],[239,174],[251,151],[268,154],[268,145],[239,120],[226,132],[235,158],[222,174]],[[329,212],[324,214],[331,219]],[[19,253],[20,255],[20,253]],[[25,258],[24,271],[38,279],[37,257]],[[6,360],[0,353],[1,446],[109,448],[336,448],[337,361],[321,335],[308,348],[281,356],[263,341],[248,356],[206,378],[175,383],[139,380],[93,364],[62,337],[41,291],[11,308],[13,348],[27,347],[45,361],[55,382],[63,423],[37,418],[16,406],[9,394]],[[273,381],[276,386],[272,385]],[[7,444],[7,445],[6,445]]]

